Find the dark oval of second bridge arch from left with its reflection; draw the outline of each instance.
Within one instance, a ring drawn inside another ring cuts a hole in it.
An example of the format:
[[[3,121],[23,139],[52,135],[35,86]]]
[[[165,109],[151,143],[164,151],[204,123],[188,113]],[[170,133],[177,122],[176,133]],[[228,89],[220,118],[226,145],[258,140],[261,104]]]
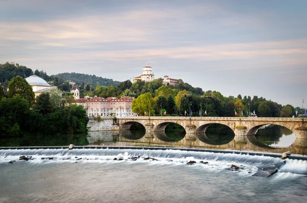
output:
[[[161,123],[155,128],[155,135],[164,142],[177,142],[185,137],[185,129],[177,123]]]

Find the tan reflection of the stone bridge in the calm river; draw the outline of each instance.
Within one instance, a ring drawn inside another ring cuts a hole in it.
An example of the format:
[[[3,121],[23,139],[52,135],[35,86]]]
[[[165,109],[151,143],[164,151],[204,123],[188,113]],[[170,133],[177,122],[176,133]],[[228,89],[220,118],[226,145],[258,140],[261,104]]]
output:
[[[222,145],[213,145],[205,143],[200,139],[194,141],[186,140],[185,138],[174,142],[166,136],[164,132],[146,132],[145,136],[138,140],[127,139],[122,136],[123,131],[95,131],[90,132],[87,137],[90,145],[105,145],[105,146],[140,146],[140,147],[185,147],[185,148],[205,148],[205,149],[233,149],[233,150],[252,150],[282,153],[291,151],[291,153],[307,154],[306,140],[296,139],[295,143],[286,148],[270,147],[260,143],[255,136],[250,140],[246,136],[235,136],[234,139]],[[162,133],[162,134],[161,134]],[[162,140],[163,139],[163,140]],[[167,141],[169,140],[169,141]]]

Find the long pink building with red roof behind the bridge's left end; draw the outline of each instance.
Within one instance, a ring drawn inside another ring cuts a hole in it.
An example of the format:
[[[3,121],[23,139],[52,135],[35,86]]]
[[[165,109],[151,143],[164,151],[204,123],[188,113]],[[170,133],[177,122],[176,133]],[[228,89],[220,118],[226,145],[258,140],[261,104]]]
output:
[[[87,116],[108,117],[113,115],[118,117],[133,116],[131,105],[133,97],[95,97],[90,99],[77,99],[76,104],[83,105],[86,108]]]

